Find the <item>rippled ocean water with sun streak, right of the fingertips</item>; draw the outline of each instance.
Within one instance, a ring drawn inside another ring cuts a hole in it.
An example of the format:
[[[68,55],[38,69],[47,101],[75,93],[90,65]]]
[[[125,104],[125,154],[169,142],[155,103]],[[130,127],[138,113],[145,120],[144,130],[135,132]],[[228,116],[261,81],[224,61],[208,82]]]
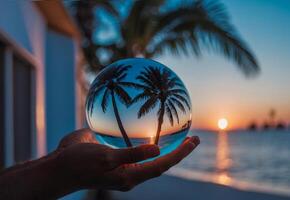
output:
[[[290,130],[190,135],[201,144],[169,174],[290,197]]]

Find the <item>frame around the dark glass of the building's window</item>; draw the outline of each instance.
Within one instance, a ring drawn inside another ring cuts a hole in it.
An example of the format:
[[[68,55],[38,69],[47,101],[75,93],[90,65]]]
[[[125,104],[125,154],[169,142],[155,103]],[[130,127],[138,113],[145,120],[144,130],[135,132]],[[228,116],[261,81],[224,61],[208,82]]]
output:
[[[4,44],[4,167],[15,164],[14,161],[14,116],[13,116],[13,60],[23,60],[31,68],[31,158],[38,156],[36,108],[37,108],[37,70],[39,62],[26,49],[0,31],[0,42]]]

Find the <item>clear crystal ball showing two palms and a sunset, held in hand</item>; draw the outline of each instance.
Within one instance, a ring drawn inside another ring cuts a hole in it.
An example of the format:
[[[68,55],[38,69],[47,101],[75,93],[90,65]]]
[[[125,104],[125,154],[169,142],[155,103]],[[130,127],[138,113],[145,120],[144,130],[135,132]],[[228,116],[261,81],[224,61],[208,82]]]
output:
[[[176,149],[191,126],[191,101],[181,79],[144,58],[116,61],[92,82],[86,118],[96,139],[112,148],[157,144]]]

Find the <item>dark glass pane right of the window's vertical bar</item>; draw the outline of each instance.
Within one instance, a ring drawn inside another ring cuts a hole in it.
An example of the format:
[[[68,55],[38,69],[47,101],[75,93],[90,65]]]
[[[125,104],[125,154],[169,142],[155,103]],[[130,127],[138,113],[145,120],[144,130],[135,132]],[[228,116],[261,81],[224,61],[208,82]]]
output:
[[[31,158],[32,68],[18,58],[13,60],[14,158]]]

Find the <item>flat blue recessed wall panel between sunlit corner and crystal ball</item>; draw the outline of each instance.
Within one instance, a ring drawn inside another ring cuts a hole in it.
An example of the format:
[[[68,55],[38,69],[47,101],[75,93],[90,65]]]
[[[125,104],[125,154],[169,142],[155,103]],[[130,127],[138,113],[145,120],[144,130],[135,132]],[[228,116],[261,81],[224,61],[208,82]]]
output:
[[[53,31],[46,38],[46,126],[47,148],[76,129],[75,43]]]

